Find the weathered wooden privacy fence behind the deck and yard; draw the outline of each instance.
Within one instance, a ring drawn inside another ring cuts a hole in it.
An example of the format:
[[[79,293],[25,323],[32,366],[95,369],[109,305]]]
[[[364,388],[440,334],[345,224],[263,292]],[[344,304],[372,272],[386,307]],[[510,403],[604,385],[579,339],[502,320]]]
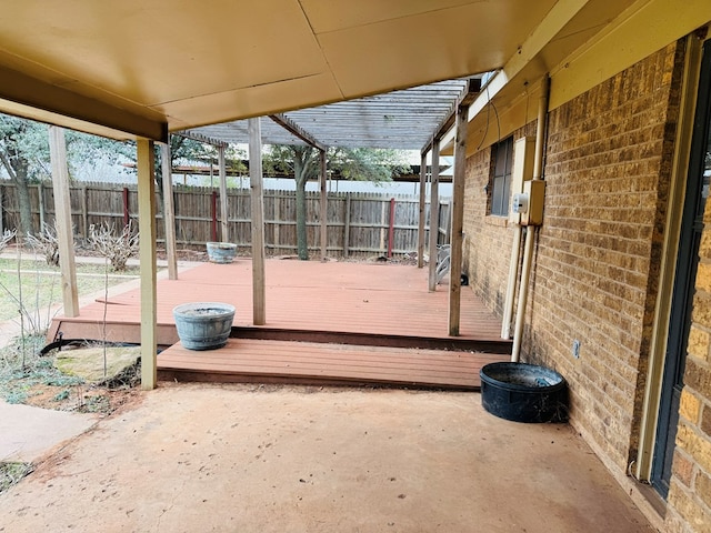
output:
[[[117,229],[138,217],[136,184],[80,183],[70,188],[74,235],[86,239],[91,224],[108,222]],[[52,224],[54,200],[47,184],[30,185],[32,224]],[[220,235],[219,191],[209,187],[177,185],[176,237],[184,248],[198,248]],[[164,240],[159,205],[158,242]],[[425,207],[429,223],[429,203]],[[16,185],[0,181],[0,232],[18,224]],[[440,199],[439,242],[449,242],[449,200]],[[331,257],[401,257],[418,248],[419,198],[384,193],[331,192],[328,194],[328,254]],[[251,245],[250,197],[247,189],[228,190],[229,241]],[[427,224],[429,232],[429,224]],[[307,232],[309,250],[320,250],[320,194],[307,192]],[[425,239],[429,237],[425,235]],[[268,253],[297,253],[297,199],[293,191],[264,191],[264,242]],[[425,242],[428,242],[425,240]]]

